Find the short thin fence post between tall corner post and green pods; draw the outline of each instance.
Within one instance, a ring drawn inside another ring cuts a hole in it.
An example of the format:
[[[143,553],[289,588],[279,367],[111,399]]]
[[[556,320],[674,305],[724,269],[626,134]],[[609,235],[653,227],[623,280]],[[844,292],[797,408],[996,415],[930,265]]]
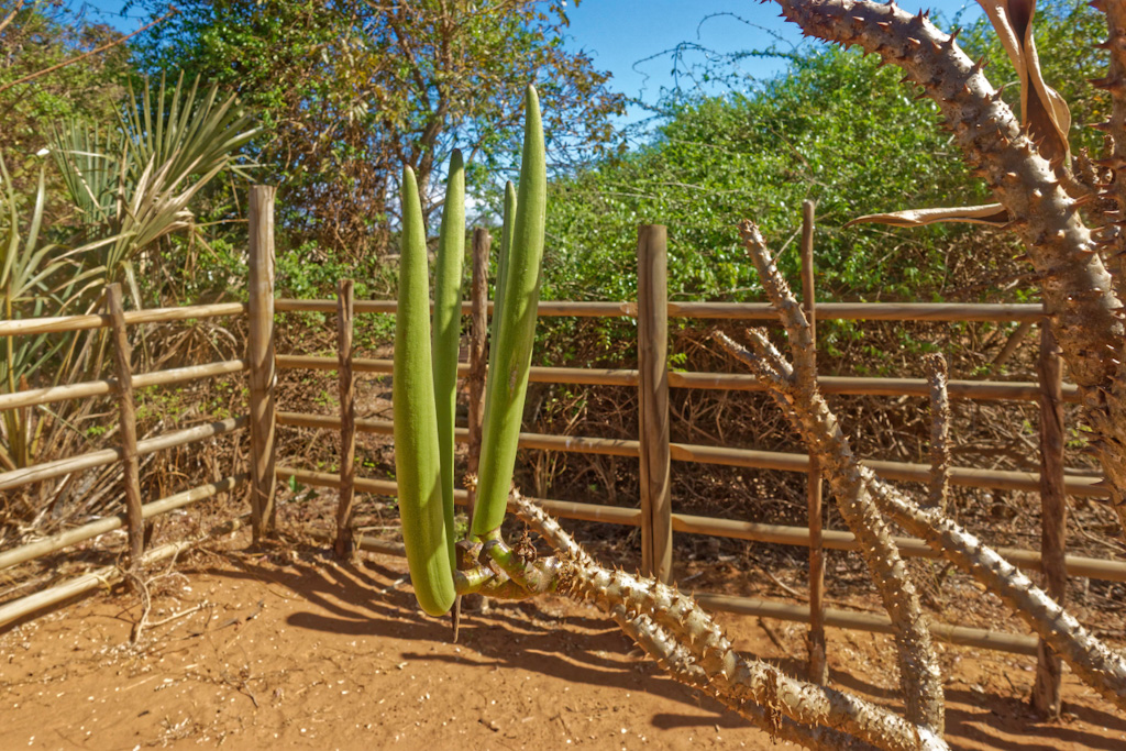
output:
[[[337,506],[337,557],[352,554],[352,499],[356,497],[356,378],[352,377],[352,319],[356,285],[351,279],[337,283],[337,359],[340,375],[340,502]]]

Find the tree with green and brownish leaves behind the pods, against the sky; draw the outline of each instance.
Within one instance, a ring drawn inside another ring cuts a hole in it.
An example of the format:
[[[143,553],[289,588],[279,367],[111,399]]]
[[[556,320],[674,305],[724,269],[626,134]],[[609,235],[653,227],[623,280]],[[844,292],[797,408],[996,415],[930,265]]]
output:
[[[568,52],[565,3],[465,0],[188,0],[141,43],[148,70],[181,68],[261,113],[262,179],[284,186],[294,244],[356,258],[390,248],[402,166],[429,217],[456,146],[471,190],[509,168],[521,91],[535,82],[556,162],[598,151],[622,99]],[[152,3],[157,10],[157,3]]]

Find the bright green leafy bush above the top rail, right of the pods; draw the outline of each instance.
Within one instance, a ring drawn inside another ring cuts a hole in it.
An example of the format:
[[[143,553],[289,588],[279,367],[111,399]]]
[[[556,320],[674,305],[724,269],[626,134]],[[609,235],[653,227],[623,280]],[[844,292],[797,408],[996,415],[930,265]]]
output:
[[[1103,30],[1100,14],[1048,2],[1037,19],[1048,82],[1075,102],[1076,123],[1099,119],[1105,100],[1088,79],[1101,63],[1087,51]],[[985,21],[962,42],[997,63],[995,82],[1011,78]],[[980,254],[983,242],[1004,249],[976,226],[842,229],[863,214],[989,203],[990,196],[937,127],[937,107],[917,100],[900,72],[881,68],[875,56],[823,45],[785,56],[788,72],[761,86],[727,77],[740,90],[725,97],[674,92],[661,106],[667,120],[646,144],[554,181],[545,295],[633,298],[634,227],[655,223],[669,227],[672,298],[753,298],[757,281],[738,222],[753,218],[771,247],[794,248],[806,198],[817,204],[823,298],[928,298],[967,281],[951,257]],[[1019,106],[1015,89],[1008,96]],[[1093,132],[1073,133],[1079,146]],[[1006,257],[978,260],[988,272]],[[785,253],[781,263],[793,272],[796,253]]]

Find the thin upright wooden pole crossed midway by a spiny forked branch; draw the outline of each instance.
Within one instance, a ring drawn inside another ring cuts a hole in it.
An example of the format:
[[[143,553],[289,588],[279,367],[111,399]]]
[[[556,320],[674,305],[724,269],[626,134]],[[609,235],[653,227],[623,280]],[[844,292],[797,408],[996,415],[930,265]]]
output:
[[[810,320],[810,336],[817,341],[816,294],[813,280],[813,202],[802,203],[802,307]],[[814,345],[815,346],[815,345]],[[806,504],[810,515],[810,680],[824,686],[829,680],[825,659],[825,553],[822,540],[821,466],[810,457]]]

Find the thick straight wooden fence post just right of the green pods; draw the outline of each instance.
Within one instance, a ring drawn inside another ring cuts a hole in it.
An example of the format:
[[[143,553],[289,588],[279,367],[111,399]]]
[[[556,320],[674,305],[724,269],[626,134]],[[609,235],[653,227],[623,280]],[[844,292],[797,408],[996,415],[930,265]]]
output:
[[[662,582],[672,575],[667,238],[660,224],[637,229],[642,570]]]

